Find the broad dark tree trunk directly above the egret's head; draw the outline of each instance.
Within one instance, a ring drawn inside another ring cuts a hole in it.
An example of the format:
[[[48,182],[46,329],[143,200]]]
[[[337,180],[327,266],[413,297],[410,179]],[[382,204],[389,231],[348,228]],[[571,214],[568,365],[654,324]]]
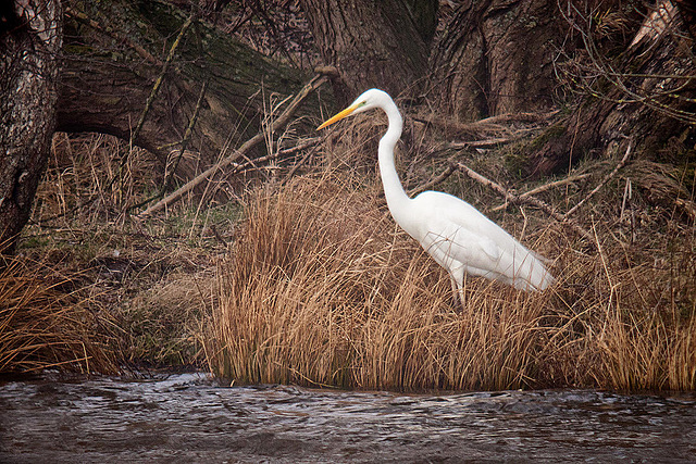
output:
[[[301,0],[316,48],[338,70],[332,84],[343,104],[377,87],[414,91],[427,72],[435,0]]]

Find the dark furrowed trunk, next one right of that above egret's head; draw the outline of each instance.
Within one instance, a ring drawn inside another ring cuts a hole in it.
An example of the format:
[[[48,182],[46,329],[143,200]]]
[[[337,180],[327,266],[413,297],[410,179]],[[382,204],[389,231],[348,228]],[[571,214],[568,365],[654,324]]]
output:
[[[460,121],[550,108],[568,27],[556,1],[467,0],[434,49],[432,95]]]

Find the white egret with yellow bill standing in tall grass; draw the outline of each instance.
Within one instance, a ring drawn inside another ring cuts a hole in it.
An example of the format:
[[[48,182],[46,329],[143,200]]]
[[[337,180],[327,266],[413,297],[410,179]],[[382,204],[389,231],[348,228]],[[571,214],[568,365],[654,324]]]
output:
[[[499,280],[521,290],[543,290],[554,283],[543,259],[465,201],[440,191],[424,191],[409,198],[394,164],[394,147],[401,137],[403,121],[388,93],[368,90],[316,129],[375,108],[383,110],[389,120],[377,151],[389,212],[449,273],[460,298],[464,274]]]

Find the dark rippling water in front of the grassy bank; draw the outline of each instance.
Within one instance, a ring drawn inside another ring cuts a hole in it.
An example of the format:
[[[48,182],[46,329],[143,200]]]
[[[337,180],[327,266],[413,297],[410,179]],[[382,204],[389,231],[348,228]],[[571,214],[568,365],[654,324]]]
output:
[[[0,462],[693,462],[696,397],[221,387],[201,374],[0,384]]]

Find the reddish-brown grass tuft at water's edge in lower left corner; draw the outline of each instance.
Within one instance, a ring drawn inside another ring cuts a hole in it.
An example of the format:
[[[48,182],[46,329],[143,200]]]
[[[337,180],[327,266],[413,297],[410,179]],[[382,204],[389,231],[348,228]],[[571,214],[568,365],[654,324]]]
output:
[[[104,338],[113,322],[73,291],[70,278],[40,263],[4,262],[0,271],[0,373],[47,367],[116,372]]]

